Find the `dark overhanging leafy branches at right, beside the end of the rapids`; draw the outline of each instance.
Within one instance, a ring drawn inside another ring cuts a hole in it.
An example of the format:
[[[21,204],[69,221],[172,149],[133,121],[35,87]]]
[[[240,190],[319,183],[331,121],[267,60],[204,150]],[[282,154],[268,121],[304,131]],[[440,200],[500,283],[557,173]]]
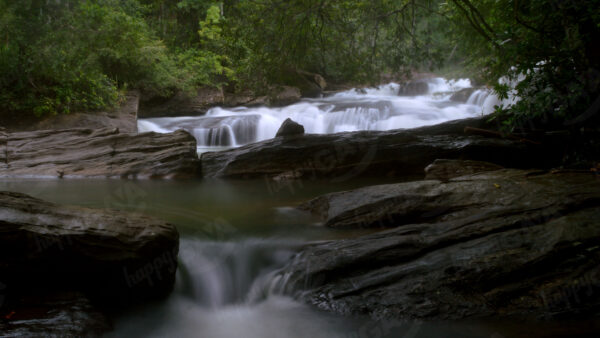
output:
[[[518,83],[520,100],[497,110],[510,128],[558,126],[600,94],[600,1],[450,0],[442,10],[453,19],[462,55],[482,78]],[[504,97],[508,87],[495,90]]]

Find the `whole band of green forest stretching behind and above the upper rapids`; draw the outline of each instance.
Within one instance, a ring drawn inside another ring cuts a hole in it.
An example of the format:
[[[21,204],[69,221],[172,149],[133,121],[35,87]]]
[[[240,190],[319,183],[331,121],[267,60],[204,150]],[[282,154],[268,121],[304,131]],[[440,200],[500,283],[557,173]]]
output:
[[[128,89],[451,67],[514,91],[499,108],[509,123],[580,123],[599,96],[599,30],[600,0],[0,0],[0,107],[42,116],[104,109]]]

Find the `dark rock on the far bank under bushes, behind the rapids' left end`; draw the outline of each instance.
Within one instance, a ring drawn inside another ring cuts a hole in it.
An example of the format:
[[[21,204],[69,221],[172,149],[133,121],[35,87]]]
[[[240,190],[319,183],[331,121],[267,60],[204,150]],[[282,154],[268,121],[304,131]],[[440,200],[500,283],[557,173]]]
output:
[[[171,98],[154,97],[142,100],[139,117],[174,117],[204,115],[215,106],[223,105],[225,96],[219,88],[203,87],[196,95],[176,93]]]

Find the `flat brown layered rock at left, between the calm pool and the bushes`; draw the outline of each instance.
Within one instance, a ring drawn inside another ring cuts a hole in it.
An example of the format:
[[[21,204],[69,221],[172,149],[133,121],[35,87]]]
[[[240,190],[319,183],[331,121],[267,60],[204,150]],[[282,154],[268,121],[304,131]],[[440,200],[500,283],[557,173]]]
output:
[[[118,129],[43,130],[0,134],[0,177],[196,177],[196,139]]]

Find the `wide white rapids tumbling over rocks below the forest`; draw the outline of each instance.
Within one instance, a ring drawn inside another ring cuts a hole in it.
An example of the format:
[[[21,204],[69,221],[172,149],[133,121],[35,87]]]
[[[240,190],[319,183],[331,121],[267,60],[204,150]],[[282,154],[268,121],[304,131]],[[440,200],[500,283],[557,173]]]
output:
[[[196,138],[198,151],[205,152],[273,138],[286,118],[303,125],[308,134],[330,134],[433,125],[488,114],[504,104],[486,89],[473,91],[465,103],[450,100],[453,93],[472,87],[468,79],[426,81],[428,93],[420,96],[399,96],[400,85],[390,83],[281,108],[215,107],[204,116],[140,119],[138,129],[159,133],[185,129]]]

